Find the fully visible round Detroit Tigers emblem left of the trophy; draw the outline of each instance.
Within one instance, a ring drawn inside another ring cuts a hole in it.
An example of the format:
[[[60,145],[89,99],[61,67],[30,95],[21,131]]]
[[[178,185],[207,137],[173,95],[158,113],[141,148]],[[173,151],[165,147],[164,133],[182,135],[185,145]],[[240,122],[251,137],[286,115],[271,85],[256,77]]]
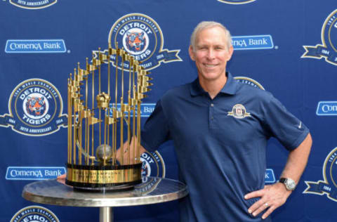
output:
[[[44,136],[66,126],[58,89],[44,79],[27,79],[15,87],[8,102],[9,115],[0,116],[4,126],[29,136]]]

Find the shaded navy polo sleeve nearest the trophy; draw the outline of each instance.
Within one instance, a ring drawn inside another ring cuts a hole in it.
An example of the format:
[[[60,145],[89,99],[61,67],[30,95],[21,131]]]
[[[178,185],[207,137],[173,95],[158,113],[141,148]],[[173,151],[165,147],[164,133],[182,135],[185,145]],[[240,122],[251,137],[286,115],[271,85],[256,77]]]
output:
[[[159,100],[143,126],[140,133],[140,144],[143,145],[145,150],[151,152],[157,150],[161,143],[168,141],[170,138],[169,124]]]

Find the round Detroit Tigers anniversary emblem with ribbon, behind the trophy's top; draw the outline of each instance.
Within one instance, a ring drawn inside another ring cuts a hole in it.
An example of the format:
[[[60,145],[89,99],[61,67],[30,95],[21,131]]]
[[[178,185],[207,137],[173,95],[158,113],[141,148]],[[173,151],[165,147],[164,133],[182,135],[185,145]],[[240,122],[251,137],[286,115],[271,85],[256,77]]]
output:
[[[145,70],[152,70],[161,62],[181,61],[180,50],[163,49],[164,37],[159,25],[144,14],[132,13],[119,18],[111,27],[108,41],[113,48],[124,48],[133,55]]]

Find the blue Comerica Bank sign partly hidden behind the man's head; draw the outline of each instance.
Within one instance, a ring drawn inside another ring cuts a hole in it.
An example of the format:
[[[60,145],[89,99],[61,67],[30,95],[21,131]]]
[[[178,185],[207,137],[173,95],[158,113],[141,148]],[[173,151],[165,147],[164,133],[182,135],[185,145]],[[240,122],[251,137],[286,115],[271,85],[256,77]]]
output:
[[[232,45],[234,50],[274,48],[270,34],[232,37]]]

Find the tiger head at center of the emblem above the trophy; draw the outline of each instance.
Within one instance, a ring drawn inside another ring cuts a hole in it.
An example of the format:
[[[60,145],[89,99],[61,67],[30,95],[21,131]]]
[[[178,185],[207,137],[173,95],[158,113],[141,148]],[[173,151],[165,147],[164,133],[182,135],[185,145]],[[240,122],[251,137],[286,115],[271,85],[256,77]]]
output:
[[[145,32],[126,32],[124,44],[128,51],[139,53],[145,48],[146,42]]]

